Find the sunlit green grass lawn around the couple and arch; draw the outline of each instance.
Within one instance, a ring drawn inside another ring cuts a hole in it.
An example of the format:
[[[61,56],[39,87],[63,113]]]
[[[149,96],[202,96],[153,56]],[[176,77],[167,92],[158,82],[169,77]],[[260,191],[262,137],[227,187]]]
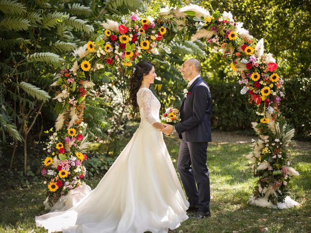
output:
[[[311,233],[311,143],[298,142],[293,148],[293,165],[300,176],[291,180],[291,198],[299,205],[287,210],[260,208],[247,204],[255,179],[249,172],[251,138],[234,133],[213,133],[208,145],[207,165],[211,184],[211,217],[188,219],[172,233]],[[122,148],[130,138],[121,142]],[[174,166],[179,139],[165,138]],[[86,181],[92,188],[100,178]],[[46,213],[44,185],[0,189],[0,232],[43,233],[35,227],[35,216]]]

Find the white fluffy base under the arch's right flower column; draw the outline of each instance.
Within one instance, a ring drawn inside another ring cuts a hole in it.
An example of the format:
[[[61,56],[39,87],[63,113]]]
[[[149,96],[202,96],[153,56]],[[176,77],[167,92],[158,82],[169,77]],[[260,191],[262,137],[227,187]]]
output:
[[[297,201],[291,199],[289,196],[285,198],[284,202],[277,202],[276,205],[270,202],[268,198],[256,198],[254,196],[250,196],[247,203],[259,207],[269,207],[279,210],[289,209],[299,204]]]

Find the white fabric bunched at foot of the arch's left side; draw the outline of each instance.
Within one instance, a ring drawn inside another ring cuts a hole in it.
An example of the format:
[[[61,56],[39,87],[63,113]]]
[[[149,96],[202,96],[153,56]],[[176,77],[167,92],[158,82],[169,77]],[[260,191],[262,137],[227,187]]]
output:
[[[48,198],[43,204],[47,210],[50,210],[50,212],[65,211],[85,198],[91,191],[90,186],[87,184],[79,185],[75,189],[71,189],[65,196],[61,196],[52,207],[48,203]]]

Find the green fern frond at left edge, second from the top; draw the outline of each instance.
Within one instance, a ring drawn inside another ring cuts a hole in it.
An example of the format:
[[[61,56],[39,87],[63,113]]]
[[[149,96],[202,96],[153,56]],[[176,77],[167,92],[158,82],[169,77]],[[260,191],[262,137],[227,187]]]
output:
[[[30,26],[30,21],[26,18],[2,17],[0,19],[0,31],[26,31]]]

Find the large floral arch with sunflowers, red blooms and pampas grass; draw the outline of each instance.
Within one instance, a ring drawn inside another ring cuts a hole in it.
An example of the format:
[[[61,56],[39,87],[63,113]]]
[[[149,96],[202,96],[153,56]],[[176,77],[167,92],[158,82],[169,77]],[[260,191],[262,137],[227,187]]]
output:
[[[253,38],[230,12],[211,12],[189,5],[169,12],[136,12],[107,19],[103,31],[74,51],[72,63],[52,84],[57,88],[54,99],[62,111],[41,170],[48,179],[50,206],[84,184],[83,161],[87,155],[83,110],[87,91],[94,85],[91,73],[110,68],[133,70],[142,55],[169,53],[168,43],[186,26],[192,40],[204,41],[227,59],[242,85],[241,94],[249,95],[258,116],[258,121],[252,123],[258,139],[248,155],[258,182],[249,203],[276,208],[297,204],[288,197],[287,187],[290,177],[298,175],[290,166],[288,152],[294,129],[278,110],[284,89],[276,61],[272,54],[264,52],[263,39]]]

